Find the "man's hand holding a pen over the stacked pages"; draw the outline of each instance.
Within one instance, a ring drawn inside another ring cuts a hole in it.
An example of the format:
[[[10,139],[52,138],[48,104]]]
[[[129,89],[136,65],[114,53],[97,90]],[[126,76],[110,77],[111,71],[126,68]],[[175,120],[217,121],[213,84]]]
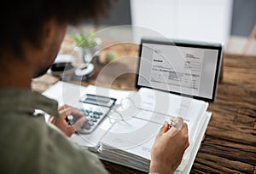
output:
[[[186,148],[189,147],[188,125],[182,118],[172,119],[178,124],[170,129],[167,122],[160,128],[151,149],[150,172],[173,173],[180,165]]]

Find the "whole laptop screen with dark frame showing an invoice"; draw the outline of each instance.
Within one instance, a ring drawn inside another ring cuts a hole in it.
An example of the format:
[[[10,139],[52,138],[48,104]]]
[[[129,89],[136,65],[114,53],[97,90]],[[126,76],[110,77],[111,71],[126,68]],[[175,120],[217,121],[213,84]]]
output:
[[[222,44],[142,39],[137,88],[148,87],[213,102]]]

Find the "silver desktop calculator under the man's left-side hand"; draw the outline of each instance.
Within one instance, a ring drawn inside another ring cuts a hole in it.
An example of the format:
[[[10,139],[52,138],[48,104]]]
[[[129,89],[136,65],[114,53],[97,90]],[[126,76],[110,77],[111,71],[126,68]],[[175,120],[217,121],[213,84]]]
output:
[[[116,99],[109,98],[107,96],[85,94],[81,97],[79,102],[84,103],[83,108],[77,109],[84,113],[86,121],[84,122],[84,125],[77,130],[77,133],[90,134],[108,115],[111,107],[113,107],[114,103],[116,102]],[[67,124],[74,125],[78,119],[78,116],[68,115],[66,119]]]

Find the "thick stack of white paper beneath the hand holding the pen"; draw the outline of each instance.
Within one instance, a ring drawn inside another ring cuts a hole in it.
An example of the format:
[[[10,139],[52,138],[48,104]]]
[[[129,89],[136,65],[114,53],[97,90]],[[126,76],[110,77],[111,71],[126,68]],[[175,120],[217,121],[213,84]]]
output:
[[[142,100],[139,111],[130,119],[115,122],[102,138],[100,157],[120,165],[148,171],[150,149],[160,126],[164,120],[180,116],[188,124],[190,145],[177,172],[189,172],[211,117],[211,113],[206,112],[207,102],[150,89],[141,89],[138,95]],[[169,103],[169,107],[155,104],[156,98],[160,98],[161,103]]]

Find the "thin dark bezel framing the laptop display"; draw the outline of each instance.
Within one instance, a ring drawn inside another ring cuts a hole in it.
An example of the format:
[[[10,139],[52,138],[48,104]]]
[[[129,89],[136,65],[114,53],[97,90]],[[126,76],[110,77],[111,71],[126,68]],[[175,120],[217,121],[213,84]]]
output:
[[[169,91],[169,90],[156,89],[151,86],[139,85],[138,79],[139,79],[139,71],[140,71],[141,56],[142,56],[142,51],[143,51],[143,44],[164,44],[164,45],[172,45],[172,46],[218,50],[217,67],[216,67],[216,72],[215,72],[215,77],[214,77],[212,97],[207,98],[207,97],[202,97],[202,96],[193,96],[193,95],[182,94],[182,93]],[[224,44],[197,42],[197,41],[189,41],[189,40],[177,40],[177,39],[142,38],[141,43],[139,45],[138,53],[139,53],[139,55],[138,55],[137,75],[136,75],[136,83],[135,83],[137,89],[140,89],[143,87],[143,88],[149,88],[149,89],[154,89],[154,90],[161,90],[161,91],[176,94],[179,96],[192,97],[192,98],[202,100],[205,102],[215,102],[215,99],[217,96],[217,90],[218,90],[218,80],[219,80],[220,70],[221,70],[222,63],[223,63],[222,61],[223,61],[223,54],[224,54]]]

